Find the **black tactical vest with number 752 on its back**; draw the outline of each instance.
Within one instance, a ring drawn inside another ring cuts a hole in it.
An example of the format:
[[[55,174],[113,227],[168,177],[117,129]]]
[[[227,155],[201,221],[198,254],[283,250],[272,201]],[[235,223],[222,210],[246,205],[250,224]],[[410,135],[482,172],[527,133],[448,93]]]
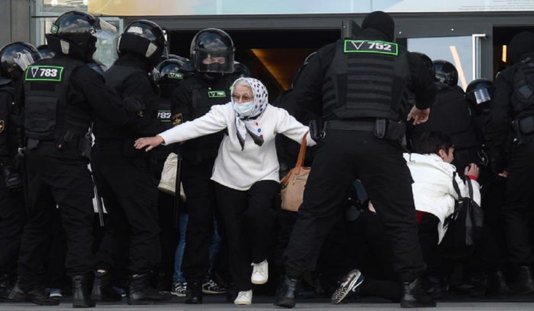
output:
[[[398,120],[398,107],[409,77],[407,53],[397,43],[340,40],[323,84],[325,119]],[[394,87],[398,84],[402,86]]]

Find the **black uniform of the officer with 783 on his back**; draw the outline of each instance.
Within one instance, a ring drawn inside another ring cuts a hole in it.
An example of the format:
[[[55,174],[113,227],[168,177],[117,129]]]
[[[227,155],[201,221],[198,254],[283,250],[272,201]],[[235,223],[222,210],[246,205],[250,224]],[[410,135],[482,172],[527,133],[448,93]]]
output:
[[[119,126],[128,122],[120,102],[103,77],[85,62],[58,55],[28,67],[23,97],[28,223],[18,262],[22,289],[35,285],[48,251],[49,217],[59,206],[68,236],[65,266],[68,275],[92,273],[93,184],[88,170],[93,118]]]

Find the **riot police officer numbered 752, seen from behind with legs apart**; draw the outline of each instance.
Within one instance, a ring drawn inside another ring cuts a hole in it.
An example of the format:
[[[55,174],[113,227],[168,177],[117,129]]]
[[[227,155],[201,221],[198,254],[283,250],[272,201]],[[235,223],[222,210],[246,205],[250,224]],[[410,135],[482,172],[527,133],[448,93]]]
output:
[[[425,122],[435,97],[433,77],[417,55],[392,42],[394,21],[384,12],[367,15],[357,38],[319,49],[302,70],[294,92],[297,103],[321,108],[326,123],[304,190],[299,218],[285,252],[286,275],[274,305],[291,308],[305,270],[313,270],[320,246],[343,212],[352,182],[362,180],[387,234],[394,270],[403,282],[403,307],[429,307],[419,276],[421,256],[410,171],[402,157],[404,120],[399,105],[404,89],[417,99],[409,118]]]

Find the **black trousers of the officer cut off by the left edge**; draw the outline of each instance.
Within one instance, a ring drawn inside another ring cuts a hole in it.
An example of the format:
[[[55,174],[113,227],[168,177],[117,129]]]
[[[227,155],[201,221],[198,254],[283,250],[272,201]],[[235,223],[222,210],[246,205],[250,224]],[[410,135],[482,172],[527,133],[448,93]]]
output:
[[[22,189],[7,189],[2,174],[0,179],[0,274],[13,274],[17,269],[26,208]]]

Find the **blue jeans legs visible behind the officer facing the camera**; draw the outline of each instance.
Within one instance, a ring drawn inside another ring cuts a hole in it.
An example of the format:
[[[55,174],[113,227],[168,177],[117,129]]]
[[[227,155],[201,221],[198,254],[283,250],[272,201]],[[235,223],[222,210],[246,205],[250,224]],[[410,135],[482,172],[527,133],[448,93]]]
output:
[[[174,256],[174,283],[183,283],[185,282],[185,277],[182,274],[182,261],[184,259],[184,249],[185,249],[185,232],[187,229],[187,214],[180,214],[179,226],[180,226],[180,240],[176,246],[176,253]],[[221,236],[217,233],[217,222],[213,221],[214,234],[213,240],[209,245],[209,274],[211,274],[211,269],[217,257],[217,253],[221,248]]]

